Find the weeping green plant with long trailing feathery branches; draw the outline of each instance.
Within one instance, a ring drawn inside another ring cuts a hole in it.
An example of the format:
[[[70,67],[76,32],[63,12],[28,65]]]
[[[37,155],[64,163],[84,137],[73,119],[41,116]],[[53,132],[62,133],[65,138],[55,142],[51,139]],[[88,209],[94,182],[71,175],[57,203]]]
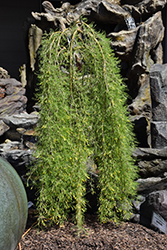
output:
[[[40,62],[38,160],[30,170],[39,220],[63,223],[72,212],[82,226],[89,157],[98,168],[100,221],[124,218],[136,189],[134,137],[109,41],[80,21],[43,36]]]

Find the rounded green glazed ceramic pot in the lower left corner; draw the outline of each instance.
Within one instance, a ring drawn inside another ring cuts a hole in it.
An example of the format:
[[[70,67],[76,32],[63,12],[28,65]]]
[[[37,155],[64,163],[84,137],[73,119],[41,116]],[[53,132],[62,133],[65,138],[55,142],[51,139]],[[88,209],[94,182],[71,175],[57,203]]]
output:
[[[24,233],[27,196],[15,169],[0,157],[0,250],[14,250]]]

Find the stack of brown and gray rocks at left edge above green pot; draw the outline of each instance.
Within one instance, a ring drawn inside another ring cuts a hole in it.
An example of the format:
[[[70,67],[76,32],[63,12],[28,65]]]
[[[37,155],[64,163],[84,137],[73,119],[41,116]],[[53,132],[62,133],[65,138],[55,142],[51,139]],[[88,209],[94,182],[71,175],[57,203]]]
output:
[[[0,156],[5,158],[20,176],[32,160],[36,140],[34,127],[37,112],[26,112],[26,89],[0,68]]]

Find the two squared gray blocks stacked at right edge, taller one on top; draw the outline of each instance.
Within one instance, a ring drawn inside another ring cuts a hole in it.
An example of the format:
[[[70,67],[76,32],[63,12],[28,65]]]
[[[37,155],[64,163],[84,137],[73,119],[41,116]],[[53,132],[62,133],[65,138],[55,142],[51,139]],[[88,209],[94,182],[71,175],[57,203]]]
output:
[[[150,71],[152,99],[151,144],[167,147],[167,64],[155,64]]]

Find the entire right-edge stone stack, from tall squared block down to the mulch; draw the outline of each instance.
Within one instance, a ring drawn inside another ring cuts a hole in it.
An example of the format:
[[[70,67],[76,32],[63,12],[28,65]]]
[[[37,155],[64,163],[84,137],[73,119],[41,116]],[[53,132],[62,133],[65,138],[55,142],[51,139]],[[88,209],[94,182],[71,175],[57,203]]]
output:
[[[167,64],[151,67],[150,91],[152,148],[138,148],[133,154],[141,177],[137,180],[142,195],[140,202],[138,197],[138,219],[146,226],[150,226],[153,212],[167,221]]]

